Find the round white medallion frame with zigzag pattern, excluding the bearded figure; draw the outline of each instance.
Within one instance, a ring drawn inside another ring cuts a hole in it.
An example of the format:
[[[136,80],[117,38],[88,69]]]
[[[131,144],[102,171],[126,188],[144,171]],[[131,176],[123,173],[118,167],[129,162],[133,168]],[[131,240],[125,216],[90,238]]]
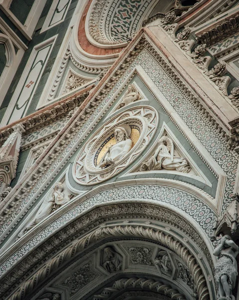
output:
[[[157,111],[146,105],[127,109],[110,119],[97,130],[90,141],[80,150],[72,168],[74,180],[83,185],[93,185],[118,174],[146,148],[156,132],[158,120]],[[129,125],[132,132],[134,129],[134,133],[138,133],[139,137],[131,137],[132,148],[114,164],[103,169],[97,167],[100,149],[103,149],[103,146],[111,140],[115,128],[124,124]],[[134,137],[135,140],[133,140]]]

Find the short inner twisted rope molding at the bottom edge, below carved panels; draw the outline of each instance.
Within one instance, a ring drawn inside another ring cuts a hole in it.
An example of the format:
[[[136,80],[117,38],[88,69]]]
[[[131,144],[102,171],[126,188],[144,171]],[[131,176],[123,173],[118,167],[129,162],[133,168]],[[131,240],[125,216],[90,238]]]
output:
[[[184,295],[182,295],[177,289],[172,288],[168,284],[153,279],[138,277],[121,278],[119,280],[116,280],[112,286],[104,288],[101,294],[94,295],[92,300],[108,299],[109,297],[112,297],[114,293],[122,290],[127,290],[127,288],[132,287],[137,289],[141,288],[157,291],[159,293],[165,294],[166,296],[170,296],[174,300],[186,300],[186,297]]]

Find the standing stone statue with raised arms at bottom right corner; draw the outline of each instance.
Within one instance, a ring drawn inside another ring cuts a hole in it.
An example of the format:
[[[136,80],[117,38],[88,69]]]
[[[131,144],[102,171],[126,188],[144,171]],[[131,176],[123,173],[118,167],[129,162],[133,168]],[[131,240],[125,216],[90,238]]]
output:
[[[220,244],[214,250],[214,255],[218,256],[218,262],[215,267],[218,299],[236,300],[233,295],[233,289],[238,275],[236,260],[238,253],[239,246],[232,240],[230,235],[224,235]]]

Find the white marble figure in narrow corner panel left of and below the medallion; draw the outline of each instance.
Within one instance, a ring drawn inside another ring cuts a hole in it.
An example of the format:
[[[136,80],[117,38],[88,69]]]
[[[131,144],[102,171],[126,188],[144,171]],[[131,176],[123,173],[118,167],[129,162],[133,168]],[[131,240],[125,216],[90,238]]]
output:
[[[50,215],[54,212],[57,208],[61,205],[68,202],[73,195],[70,194],[68,197],[65,197],[64,193],[64,186],[61,182],[57,182],[53,187],[53,192],[50,197],[44,199],[42,204],[40,205],[39,209],[37,210],[35,217],[31,220],[26,227],[18,234],[18,237],[21,237],[27,230],[30,230],[36,224],[38,224],[43,218]]]

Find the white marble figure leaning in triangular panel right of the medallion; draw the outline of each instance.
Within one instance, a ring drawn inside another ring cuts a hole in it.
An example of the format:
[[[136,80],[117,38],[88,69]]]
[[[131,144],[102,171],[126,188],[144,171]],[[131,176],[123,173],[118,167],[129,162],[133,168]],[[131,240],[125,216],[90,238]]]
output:
[[[174,143],[172,139],[164,135],[159,140],[159,146],[154,155],[143,162],[140,171],[151,170],[176,170],[188,173],[191,170],[185,158],[174,156]]]

